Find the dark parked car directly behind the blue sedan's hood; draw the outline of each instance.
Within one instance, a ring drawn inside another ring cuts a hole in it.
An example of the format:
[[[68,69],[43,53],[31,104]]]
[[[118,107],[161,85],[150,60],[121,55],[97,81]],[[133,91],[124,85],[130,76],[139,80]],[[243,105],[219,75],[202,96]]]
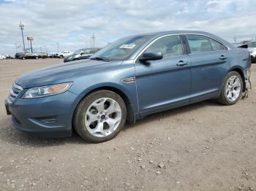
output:
[[[94,53],[99,51],[99,50],[100,50],[99,48],[86,48],[86,49],[77,50],[72,55],[66,56],[64,58],[64,63],[65,62],[70,62],[70,61],[88,59],[88,58],[91,57],[91,55],[94,55]]]

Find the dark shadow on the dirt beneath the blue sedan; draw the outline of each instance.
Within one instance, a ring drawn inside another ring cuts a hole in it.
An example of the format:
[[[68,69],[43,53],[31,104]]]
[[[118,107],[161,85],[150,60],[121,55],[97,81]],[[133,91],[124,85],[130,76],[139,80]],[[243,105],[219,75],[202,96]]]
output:
[[[191,104],[187,106],[181,106],[176,109],[170,109],[165,112],[159,112],[156,114],[148,115],[141,120],[138,120],[135,124],[127,124],[125,130],[129,128],[136,128],[138,125],[148,122],[154,122],[155,120],[165,119],[166,117],[172,117],[176,114],[182,114],[186,112],[192,112],[195,109],[200,109],[204,106],[221,106],[216,101],[202,101],[197,104]],[[2,122],[1,122],[2,123]],[[4,124],[8,124],[1,130],[0,141],[7,142],[8,144],[15,144],[21,147],[52,147],[64,144],[90,144],[89,142],[84,141],[78,133],[73,131],[71,137],[62,138],[62,139],[47,139],[45,137],[37,136],[35,134],[24,133],[20,130],[17,130],[10,125],[9,119],[6,117],[4,119]]]

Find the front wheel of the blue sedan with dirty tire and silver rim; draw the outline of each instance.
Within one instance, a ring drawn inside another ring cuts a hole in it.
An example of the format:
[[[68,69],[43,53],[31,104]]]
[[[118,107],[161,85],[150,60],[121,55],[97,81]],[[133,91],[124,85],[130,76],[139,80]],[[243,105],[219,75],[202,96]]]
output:
[[[110,90],[98,90],[80,101],[73,126],[86,141],[100,143],[117,136],[126,119],[127,107],[121,96]]]

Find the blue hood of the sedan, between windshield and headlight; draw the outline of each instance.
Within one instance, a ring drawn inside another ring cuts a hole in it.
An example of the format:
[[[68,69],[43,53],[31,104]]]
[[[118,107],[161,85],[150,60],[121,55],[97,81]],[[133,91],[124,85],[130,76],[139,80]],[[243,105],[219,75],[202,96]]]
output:
[[[75,78],[83,77],[87,74],[115,69],[120,64],[121,61],[105,62],[93,60],[60,63],[23,74],[15,80],[15,83],[23,88],[30,88],[72,82],[75,81]]]

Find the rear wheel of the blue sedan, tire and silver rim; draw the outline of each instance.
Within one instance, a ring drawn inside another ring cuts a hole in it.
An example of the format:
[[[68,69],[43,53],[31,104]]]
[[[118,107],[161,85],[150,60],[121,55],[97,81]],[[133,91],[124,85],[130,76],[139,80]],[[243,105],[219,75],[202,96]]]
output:
[[[222,90],[217,101],[227,106],[236,104],[241,97],[243,85],[241,75],[237,71],[230,71],[225,77]]]

